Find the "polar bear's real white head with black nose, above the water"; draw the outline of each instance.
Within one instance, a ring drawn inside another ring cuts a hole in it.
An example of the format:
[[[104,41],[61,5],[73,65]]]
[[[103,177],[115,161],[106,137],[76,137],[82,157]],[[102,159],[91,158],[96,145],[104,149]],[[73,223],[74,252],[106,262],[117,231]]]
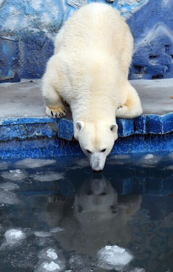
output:
[[[84,154],[89,158],[94,172],[101,172],[106,157],[110,154],[117,139],[117,125],[107,121],[76,121],[74,136],[79,141]]]

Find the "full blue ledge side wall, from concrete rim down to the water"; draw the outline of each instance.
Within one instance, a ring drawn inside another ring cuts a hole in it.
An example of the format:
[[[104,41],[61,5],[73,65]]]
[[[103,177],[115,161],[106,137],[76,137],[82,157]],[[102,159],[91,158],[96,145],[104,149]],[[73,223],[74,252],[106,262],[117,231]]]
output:
[[[117,119],[119,138],[112,154],[173,151],[173,112]],[[73,122],[49,117],[1,118],[0,157],[80,156]]]

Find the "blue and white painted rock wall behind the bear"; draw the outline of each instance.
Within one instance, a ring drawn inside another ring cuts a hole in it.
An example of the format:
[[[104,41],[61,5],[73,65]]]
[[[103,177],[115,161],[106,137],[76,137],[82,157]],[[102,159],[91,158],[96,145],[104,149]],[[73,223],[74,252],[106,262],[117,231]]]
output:
[[[118,9],[131,28],[129,78],[173,77],[173,1],[102,1]],[[92,0],[0,0],[0,82],[42,77],[56,33],[87,2]]]

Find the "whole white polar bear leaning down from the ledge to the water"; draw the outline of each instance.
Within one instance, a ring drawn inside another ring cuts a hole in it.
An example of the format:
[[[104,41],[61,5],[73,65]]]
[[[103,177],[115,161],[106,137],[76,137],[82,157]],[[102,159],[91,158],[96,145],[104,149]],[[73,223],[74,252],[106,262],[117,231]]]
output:
[[[64,23],[43,76],[46,113],[63,117],[63,101],[70,105],[74,136],[94,172],[103,170],[118,137],[115,117],[142,114],[127,80],[132,49],[132,35],[119,13],[105,3],[90,3]]]

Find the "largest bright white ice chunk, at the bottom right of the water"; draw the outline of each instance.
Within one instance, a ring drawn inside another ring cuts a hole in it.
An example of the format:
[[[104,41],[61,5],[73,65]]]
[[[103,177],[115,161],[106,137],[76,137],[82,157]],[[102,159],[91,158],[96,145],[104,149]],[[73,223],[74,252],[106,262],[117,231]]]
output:
[[[119,246],[105,246],[98,252],[99,266],[104,269],[119,270],[126,266],[133,256],[125,249]]]

